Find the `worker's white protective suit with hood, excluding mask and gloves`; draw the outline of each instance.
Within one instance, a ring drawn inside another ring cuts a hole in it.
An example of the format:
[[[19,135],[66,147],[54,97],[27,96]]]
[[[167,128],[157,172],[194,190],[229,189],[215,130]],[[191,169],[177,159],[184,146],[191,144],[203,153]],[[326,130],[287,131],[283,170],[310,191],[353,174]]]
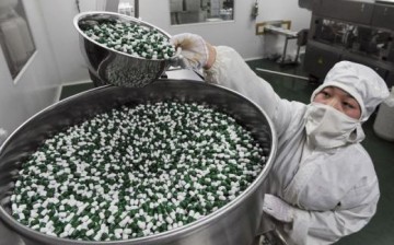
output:
[[[362,229],[375,213],[380,197],[372,161],[358,143],[363,139],[362,129],[358,128],[356,142],[339,148],[309,145],[304,115],[310,105],[280,98],[232,48],[218,46],[216,51],[213,66],[205,71],[206,80],[248,97],[264,108],[275,125],[278,149],[266,191],[289,203],[291,222],[275,222],[287,242],[331,244]],[[348,66],[340,69],[346,71]],[[389,96],[389,91],[384,81],[368,81],[380,78],[363,74],[362,69],[356,77],[351,72],[345,77],[327,74],[316,92],[327,85],[344,89],[361,103],[362,122]],[[356,80],[360,81],[355,89],[351,83]]]

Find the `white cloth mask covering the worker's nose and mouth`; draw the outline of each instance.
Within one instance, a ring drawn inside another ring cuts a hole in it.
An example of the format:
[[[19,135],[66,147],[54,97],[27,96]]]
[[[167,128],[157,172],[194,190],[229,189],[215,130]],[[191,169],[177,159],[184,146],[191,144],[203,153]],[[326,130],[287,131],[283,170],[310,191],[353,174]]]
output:
[[[360,142],[364,138],[360,120],[329,105],[312,103],[305,113],[306,142],[322,149]]]

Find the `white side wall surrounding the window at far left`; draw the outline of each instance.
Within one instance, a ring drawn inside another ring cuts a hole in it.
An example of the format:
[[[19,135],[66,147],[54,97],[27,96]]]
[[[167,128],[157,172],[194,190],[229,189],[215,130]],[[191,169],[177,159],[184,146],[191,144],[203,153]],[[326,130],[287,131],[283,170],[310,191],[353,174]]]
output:
[[[0,127],[8,132],[54,103],[60,84],[39,1],[23,3],[37,51],[14,84],[0,49]]]

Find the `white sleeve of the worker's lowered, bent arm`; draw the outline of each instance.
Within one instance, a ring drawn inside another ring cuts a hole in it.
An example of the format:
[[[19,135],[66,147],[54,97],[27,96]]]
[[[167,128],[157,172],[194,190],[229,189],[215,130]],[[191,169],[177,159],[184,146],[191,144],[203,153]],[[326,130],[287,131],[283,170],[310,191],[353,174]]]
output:
[[[344,198],[352,199],[359,205],[346,208],[338,207],[333,211],[305,211],[293,207],[293,222],[285,224],[283,231],[290,244],[323,245],[333,244],[340,237],[360,231],[376,211],[380,197],[378,182],[373,186],[357,188],[352,192],[362,192],[362,200],[354,199],[352,194]]]

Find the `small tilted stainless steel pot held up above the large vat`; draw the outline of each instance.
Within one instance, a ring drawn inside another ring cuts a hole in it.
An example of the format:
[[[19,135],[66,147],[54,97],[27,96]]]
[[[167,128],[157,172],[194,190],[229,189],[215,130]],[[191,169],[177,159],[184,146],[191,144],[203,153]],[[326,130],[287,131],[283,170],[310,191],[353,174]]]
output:
[[[159,27],[131,16],[100,11],[80,13],[74,16],[73,25],[79,32],[81,52],[90,72],[100,78],[104,84],[128,88],[144,86],[160,78],[170,67],[170,60],[144,59],[107,48],[105,45],[92,40],[80,28],[81,25],[91,25],[100,20],[108,19],[155,28],[164,36],[171,37],[170,34]]]

